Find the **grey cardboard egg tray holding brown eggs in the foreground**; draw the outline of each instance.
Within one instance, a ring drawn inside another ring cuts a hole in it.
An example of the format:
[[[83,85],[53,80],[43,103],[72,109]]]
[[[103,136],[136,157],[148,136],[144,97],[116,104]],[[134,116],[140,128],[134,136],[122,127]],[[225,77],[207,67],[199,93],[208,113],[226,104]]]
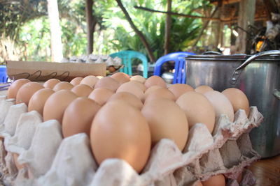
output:
[[[1,178],[6,185],[196,185],[197,180],[223,173],[228,185],[238,185],[237,176],[243,171],[241,185],[253,185],[255,180],[244,167],[260,156],[248,133],[262,118],[256,107],[251,107],[248,118],[244,110],[237,111],[233,123],[221,115],[213,134],[197,123],[183,152],[174,141],[162,139],[139,174],[119,159],[105,160],[98,167],[86,134],[63,139],[60,123],[43,122],[38,112],[27,112],[25,104],[2,95]]]

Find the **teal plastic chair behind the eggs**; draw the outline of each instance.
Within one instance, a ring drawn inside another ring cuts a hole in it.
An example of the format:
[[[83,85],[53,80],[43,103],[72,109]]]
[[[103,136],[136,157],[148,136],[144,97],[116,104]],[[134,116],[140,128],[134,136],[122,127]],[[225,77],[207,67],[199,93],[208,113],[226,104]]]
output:
[[[143,77],[148,78],[148,59],[147,57],[140,53],[133,50],[125,50],[110,54],[112,58],[118,56],[123,61],[124,67],[120,69],[120,72],[125,72],[127,75],[132,76],[132,59],[140,59],[143,63]]]

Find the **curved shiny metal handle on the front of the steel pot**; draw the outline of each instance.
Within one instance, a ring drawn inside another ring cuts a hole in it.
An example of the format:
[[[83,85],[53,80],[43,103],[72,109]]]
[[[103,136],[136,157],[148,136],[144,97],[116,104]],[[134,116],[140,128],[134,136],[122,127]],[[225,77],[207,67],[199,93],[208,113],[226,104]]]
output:
[[[258,59],[258,58],[260,58],[262,56],[271,56],[271,55],[280,56],[280,50],[269,50],[269,51],[265,51],[265,52],[260,52],[258,54],[255,54],[255,55],[249,57],[244,63],[239,65],[239,67],[237,67],[235,69],[235,71],[232,73],[232,78],[230,79],[230,84],[235,85],[237,83],[237,79],[239,78],[239,75],[241,74],[241,72],[239,72],[239,71],[242,68],[245,68],[246,65],[248,65],[249,63],[251,63],[255,59]]]

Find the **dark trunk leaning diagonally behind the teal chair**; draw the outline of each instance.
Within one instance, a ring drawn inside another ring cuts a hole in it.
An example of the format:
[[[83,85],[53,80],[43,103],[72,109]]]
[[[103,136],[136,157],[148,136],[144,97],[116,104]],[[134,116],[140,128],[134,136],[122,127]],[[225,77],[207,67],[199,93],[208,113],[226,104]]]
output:
[[[152,62],[155,62],[155,56],[153,55],[153,51],[152,51],[150,45],[148,45],[148,41],[146,40],[144,34],[141,31],[139,31],[139,29],[137,29],[135,24],[132,22],[132,19],[131,19],[130,15],[127,13],[127,10],[125,9],[125,7],[123,6],[123,3],[120,0],[116,0],[116,1],[118,3],[118,6],[120,6],[120,9],[123,10],[123,13],[125,14],[125,18],[127,19],[127,22],[130,23],[130,26],[132,26],[132,29],[135,31],[135,33],[137,33],[141,42],[143,42],[143,45],[146,48],[146,51],[148,52],[148,56],[149,56],[150,60]]]

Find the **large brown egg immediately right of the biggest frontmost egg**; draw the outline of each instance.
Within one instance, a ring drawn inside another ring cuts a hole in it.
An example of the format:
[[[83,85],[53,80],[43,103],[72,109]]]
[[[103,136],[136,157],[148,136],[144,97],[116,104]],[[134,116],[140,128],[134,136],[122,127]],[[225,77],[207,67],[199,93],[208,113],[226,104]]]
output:
[[[158,98],[144,104],[141,110],[151,130],[152,144],[160,139],[172,139],[180,150],[188,139],[188,121],[185,113],[172,100]]]

